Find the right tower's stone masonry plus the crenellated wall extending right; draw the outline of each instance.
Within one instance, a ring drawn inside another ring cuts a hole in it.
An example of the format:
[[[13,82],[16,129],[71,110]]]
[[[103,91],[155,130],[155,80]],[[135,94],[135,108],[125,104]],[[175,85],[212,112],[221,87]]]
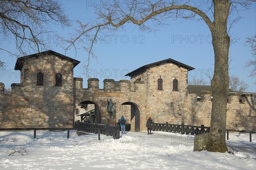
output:
[[[163,90],[157,90],[157,79],[163,79]],[[155,65],[146,72],[131,78],[131,82],[141,78],[146,82],[146,116],[154,122],[185,125],[210,126],[212,94],[201,92],[201,100],[196,94],[188,94],[187,70],[171,63]],[[173,79],[178,80],[178,91],[172,91]],[[256,130],[256,104],[250,94],[239,96],[229,94],[227,104],[227,128],[236,130]]]

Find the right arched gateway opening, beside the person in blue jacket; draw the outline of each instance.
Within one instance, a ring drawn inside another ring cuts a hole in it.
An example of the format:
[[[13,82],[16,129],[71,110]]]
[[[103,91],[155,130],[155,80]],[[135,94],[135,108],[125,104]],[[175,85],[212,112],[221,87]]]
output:
[[[125,111],[127,113],[128,118],[131,118],[129,120],[130,128],[128,127],[127,131],[130,129],[131,131],[139,132],[140,131],[140,110],[138,106],[133,102],[124,102],[122,103],[122,108],[124,107],[125,107]]]

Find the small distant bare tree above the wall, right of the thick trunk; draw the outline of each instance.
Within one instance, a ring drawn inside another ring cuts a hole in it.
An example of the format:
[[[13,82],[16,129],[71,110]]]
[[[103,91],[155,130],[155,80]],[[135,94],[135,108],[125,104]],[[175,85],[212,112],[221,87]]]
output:
[[[241,81],[239,77],[236,77],[236,76],[230,77],[230,89],[232,89],[233,91],[242,93],[242,92],[245,92],[248,87],[249,85],[246,82]]]

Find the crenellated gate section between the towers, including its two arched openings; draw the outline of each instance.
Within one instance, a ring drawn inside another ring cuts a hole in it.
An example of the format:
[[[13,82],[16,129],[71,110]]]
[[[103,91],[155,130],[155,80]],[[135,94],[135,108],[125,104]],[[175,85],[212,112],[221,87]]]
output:
[[[104,80],[104,88],[99,89],[99,79],[90,78],[87,80],[88,88],[83,87],[83,79],[74,78],[76,84],[75,95],[75,121],[101,123],[106,124],[109,120],[108,114],[108,99],[112,99],[115,106],[116,122],[125,116],[127,119],[127,130],[140,131],[141,119],[145,112],[145,97],[143,91],[138,91],[145,88],[143,81],[137,81],[131,87],[131,82],[128,80],[120,80],[119,82],[113,79]],[[131,88],[137,89],[131,90]],[[129,93],[129,95],[128,95]],[[83,102],[80,102],[83,101]]]

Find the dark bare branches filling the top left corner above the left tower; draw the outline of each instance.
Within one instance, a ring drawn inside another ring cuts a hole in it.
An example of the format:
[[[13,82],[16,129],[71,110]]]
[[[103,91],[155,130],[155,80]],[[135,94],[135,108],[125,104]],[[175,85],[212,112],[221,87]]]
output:
[[[70,26],[61,4],[55,0],[1,0],[0,34],[3,40],[15,38],[16,53],[0,47],[12,56],[25,56],[26,51],[40,52],[49,48],[52,26]],[[0,68],[4,62],[0,61]]]

